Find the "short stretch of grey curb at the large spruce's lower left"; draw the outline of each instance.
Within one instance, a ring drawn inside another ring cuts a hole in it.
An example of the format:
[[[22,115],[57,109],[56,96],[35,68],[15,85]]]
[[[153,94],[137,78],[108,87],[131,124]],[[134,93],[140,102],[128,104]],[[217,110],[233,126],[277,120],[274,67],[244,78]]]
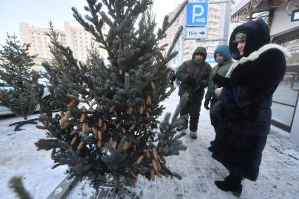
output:
[[[72,188],[74,188],[77,185],[77,182],[79,181],[78,177],[72,177],[65,176],[63,181],[61,181],[56,188],[50,193],[50,195],[46,199],[65,199],[70,191],[72,191]]]

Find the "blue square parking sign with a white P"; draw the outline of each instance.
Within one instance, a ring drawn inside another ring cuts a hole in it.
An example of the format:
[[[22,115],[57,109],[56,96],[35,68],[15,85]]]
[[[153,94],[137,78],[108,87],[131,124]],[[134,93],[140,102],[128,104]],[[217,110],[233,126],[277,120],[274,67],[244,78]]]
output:
[[[186,26],[208,25],[208,2],[188,3],[186,6]]]

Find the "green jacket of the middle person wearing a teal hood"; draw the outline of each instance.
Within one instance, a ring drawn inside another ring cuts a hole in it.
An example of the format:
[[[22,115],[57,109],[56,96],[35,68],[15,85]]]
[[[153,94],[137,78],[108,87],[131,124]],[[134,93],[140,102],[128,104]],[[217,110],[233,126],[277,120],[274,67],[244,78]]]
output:
[[[213,77],[216,73],[218,73],[219,75],[222,75],[223,77],[225,77],[225,75],[227,75],[227,72],[229,71],[229,68],[231,68],[231,65],[233,64],[232,60],[227,60],[226,62],[224,62],[222,65],[215,65],[212,68],[212,71],[210,73],[210,77],[209,77],[209,85],[208,85],[208,91],[205,94],[205,99],[206,100],[210,100],[211,98],[216,98],[215,96],[215,89],[218,88],[217,84],[214,84],[213,82]]]

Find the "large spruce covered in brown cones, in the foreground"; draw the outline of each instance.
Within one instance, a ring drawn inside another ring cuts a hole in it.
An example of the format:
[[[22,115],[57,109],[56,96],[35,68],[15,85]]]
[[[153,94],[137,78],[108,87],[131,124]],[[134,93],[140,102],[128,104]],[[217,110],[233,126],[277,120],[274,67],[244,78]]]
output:
[[[172,120],[163,113],[160,102],[170,96],[167,63],[177,55],[172,51],[182,32],[179,28],[169,51],[160,41],[182,12],[168,19],[155,33],[155,20],[150,0],[87,0],[85,19],[75,8],[74,16],[90,32],[96,45],[89,49],[86,63],[78,62],[70,48],[58,42],[58,33],[50,27],[53,62],[44,63],[51,83],[49,90],[64,110],[55,117],[43,117],[51,139],[37,141],[38,150],[52,150],[51,158],[68,165],[68,173],[89,176],[95,183],[113,176],[115,190],[120,184],[134,186],[136,176],[154,180],[155,176],[181,178],[167,168],[166,157],[179,155],[186,146],[174,128],[179,110],[188,96],[182,98]],[[107,13],[102,11],[106,6]],[[108,33],[103,33],[103,25]],[[105,49],[104,62],[96,46]],[[83,106],[78,106],[83,104]]]

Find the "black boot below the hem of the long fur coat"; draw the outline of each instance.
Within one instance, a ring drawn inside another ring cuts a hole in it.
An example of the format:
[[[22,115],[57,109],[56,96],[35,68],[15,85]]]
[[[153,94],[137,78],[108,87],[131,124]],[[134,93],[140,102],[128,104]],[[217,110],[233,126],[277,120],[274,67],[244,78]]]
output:
[[[215,181],[215,185],[222,191],[231,191],[234,196],[240,198],[242,193],[241,185],[242,177],[236,176],[234,174],[229,174],[224,181]]]

